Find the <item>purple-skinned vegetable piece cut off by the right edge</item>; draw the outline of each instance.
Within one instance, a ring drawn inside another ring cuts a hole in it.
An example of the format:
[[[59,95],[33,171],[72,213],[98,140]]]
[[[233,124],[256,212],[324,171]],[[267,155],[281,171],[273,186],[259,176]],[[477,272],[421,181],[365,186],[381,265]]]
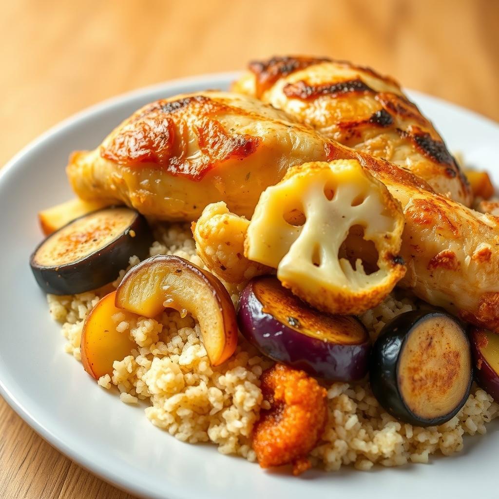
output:
[[[482,328],[470,331],[477,383],[499,400],[499,334]]]

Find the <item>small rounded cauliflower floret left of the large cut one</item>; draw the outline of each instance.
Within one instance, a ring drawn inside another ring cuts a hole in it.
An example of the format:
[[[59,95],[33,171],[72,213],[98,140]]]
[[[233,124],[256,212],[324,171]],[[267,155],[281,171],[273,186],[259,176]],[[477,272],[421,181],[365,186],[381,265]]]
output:
[[[205,265],[226,282],[239,284],[272,272],[244,255],[244,241],[250,222],[231,213],[224,202],[208,205],[192,224],[196,250]]]

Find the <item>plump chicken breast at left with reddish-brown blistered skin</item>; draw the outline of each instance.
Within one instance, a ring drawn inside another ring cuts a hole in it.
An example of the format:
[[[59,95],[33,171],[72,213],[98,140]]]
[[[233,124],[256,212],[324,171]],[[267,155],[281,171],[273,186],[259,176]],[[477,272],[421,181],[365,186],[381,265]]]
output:
[[[67,175],[84,200],[124,202],[158,219],[193,221],[218,201],[250,218],[290,166],[326,154],[312,129],[282,111],[210,91],[144,106],[97,149],[73,153]]]

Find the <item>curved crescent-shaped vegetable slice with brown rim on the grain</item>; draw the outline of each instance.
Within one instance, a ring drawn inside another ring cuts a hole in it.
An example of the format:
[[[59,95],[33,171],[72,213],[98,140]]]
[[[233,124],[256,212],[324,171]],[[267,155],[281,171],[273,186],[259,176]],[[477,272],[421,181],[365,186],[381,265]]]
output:
[[[191,313],[215,366],[236,350],[236,311],[227,289],[215,275],[179,256],[152,256],[130,269],[116,291],[116,306],[146,317],[166,307]]]

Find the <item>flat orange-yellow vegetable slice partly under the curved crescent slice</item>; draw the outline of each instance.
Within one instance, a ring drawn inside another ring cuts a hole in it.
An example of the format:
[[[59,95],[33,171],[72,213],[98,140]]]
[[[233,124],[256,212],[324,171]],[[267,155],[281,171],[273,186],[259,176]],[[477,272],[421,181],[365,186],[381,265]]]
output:
[[[116,330],[122,322],[130,322],[137,315],[114,306],[116,291],[104,296],[87,315],[81,333],[81,363],[85,371],[95,379],[112,375],[113,362],[123,360],[137,348],[129,338],[129,329]]]

